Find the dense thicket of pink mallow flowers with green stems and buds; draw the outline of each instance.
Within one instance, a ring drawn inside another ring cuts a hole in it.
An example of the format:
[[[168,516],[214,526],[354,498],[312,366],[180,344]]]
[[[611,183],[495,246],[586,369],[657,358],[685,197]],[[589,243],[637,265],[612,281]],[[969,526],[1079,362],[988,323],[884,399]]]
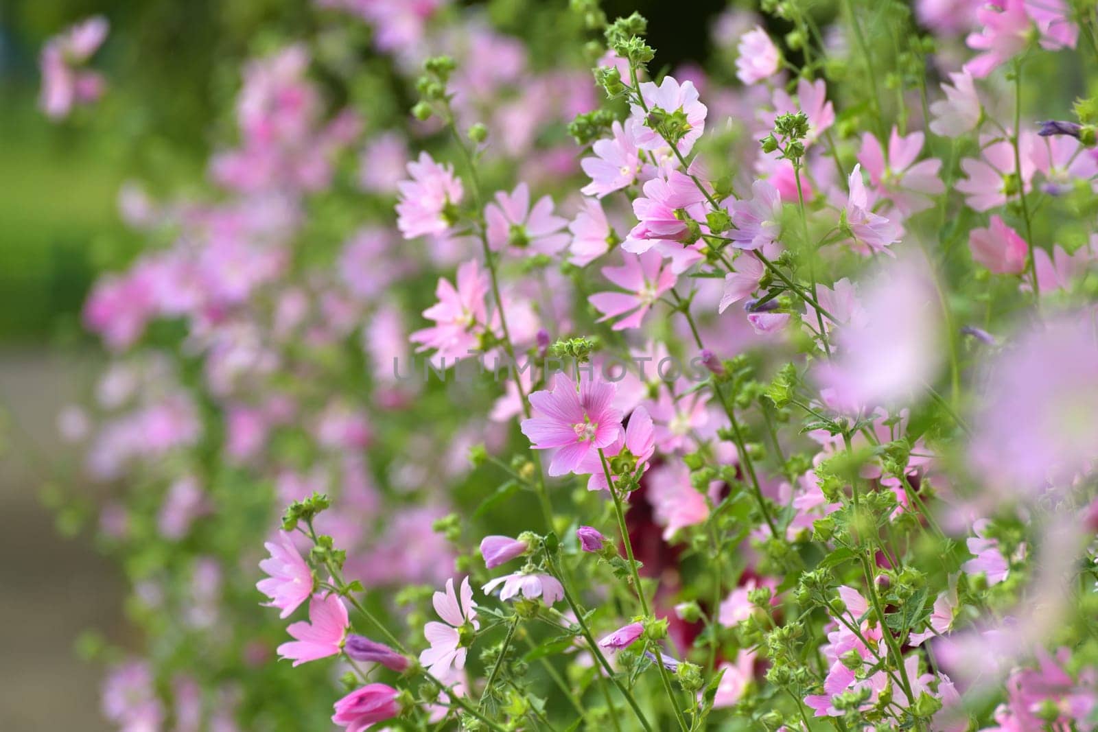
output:
[[[1094,2],[320,4],[85,311],[121,729],[1098,727]]]

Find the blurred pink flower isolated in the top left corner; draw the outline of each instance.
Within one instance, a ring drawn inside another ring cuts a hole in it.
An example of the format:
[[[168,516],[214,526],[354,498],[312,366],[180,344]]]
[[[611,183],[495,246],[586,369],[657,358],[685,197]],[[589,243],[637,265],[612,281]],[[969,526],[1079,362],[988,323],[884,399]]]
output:
[[[78,104],[98,100],[103,78],[82,67],[107,38],[108,23],[102,15],[89,18],[46,42],[40,60],[42,95],[38,105],[53,120],[68,116]]]

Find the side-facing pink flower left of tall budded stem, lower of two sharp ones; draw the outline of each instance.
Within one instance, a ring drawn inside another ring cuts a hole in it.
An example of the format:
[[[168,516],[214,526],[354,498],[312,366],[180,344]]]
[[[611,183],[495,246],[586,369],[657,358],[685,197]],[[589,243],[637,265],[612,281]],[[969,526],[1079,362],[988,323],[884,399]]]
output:
[[[434,350],[432,359],[457,362],[468,358],[470,351],[481,349],[481,336],[488,326],[488,305],[484,302],[490,283],[475,259],[458,268],[458,286],[439,278],[435,295],[438,302],[423,312],[435,325],[413,333],[412,342],[419,344],[417,352]]]

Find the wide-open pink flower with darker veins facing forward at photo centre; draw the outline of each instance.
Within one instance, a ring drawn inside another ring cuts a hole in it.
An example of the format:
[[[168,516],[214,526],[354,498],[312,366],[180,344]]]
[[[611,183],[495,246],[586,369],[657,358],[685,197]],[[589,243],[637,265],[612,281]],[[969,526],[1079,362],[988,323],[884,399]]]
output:
[[[523,435],[535,450],[557,449],[550,475],[571,473],[600,448],[608,447],[621,431],[621,413],[614,408],[613,383],[581,379],[575,384],[558,374],[552,390],[534,392],[530,404],[538,416],[524,419]]]

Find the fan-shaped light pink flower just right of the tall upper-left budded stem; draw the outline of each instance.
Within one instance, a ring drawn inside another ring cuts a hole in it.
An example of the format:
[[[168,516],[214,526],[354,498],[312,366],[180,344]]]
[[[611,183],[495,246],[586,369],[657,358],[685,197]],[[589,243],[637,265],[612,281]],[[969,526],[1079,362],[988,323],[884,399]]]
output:
[[[552,199],[541,196],[530,209],[530,190],[519,183],[512,193],[500,191],[495,203],[484,207],[488,243],[493,250],[506,247],[542,255],[554,255],[568,246],[563,229],[568,219],[554,216]]]

